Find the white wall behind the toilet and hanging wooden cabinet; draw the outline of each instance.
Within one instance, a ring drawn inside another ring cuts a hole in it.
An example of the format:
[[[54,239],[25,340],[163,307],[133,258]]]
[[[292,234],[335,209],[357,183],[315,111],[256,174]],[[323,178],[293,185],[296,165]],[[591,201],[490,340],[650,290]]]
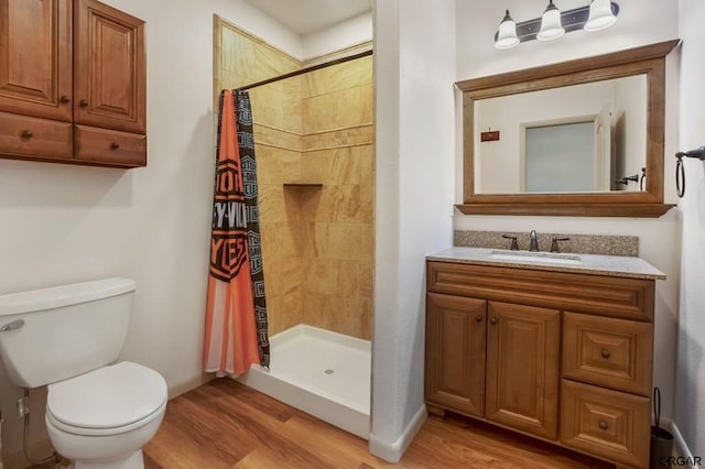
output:
[[[243,0],[107,0],[147,21],[148,157],[139,170],[0,160],[0,294],[110,275],[134,279],[122,358],[172,394],[200,383],[213,197],[213,14],[301,54],[300,39]],[[57,334],[61,334],[57,331]],[[3,454],[21,450],[0,370]],[[43,438],[43,393],[33,403]]]

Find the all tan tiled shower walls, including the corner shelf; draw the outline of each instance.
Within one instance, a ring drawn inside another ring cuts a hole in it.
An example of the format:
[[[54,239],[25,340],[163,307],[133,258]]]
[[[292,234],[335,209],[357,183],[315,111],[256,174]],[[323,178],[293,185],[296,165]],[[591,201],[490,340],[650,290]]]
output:
[[[221,31],[216,90],[302,67],[235,26]],[[369,339],[371,57],[258,87],[250,97],[270,334],[303,323]]]

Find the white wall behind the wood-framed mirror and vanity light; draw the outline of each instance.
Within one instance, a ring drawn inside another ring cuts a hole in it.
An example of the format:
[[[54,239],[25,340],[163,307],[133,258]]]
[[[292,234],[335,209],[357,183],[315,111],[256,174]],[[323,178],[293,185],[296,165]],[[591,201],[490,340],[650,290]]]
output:
[[[568,10],[585,3],[579,0],[565,0],[561,2],[560,7]],[[541,66],[677,37],[679,13],[673,2],[621,0],[618,3],[620,13],[617,23],[608,30],[594,33],[576,31],[553,42],[531,41],[519,44],[512,50],[498,51],[494,48],[492,41],[506,8],[510,10],[517,22],[521,22],[540,17],[543,7],[523,0],[506,0],[501,4],[457,1],[456,79]],[[696,1],[690,3],[695,4]],[[676,200],[672,176],[675,168],[673,153],[677,148],[679,97],[675,74],[675,65],[677,64],[674,62],[674,54],[671,54],[666,61],[669,70],[666,73],[664,154],[664,197],[665,203],[670,204],[674,204]],[[458,154],[457,157],[458,166],[460,166],[462,155]],[[460,201],[459,171],[457,176],[456,200]],[[661,389],[662,415],[664,417],[673,415],[675,325],[681,271],[681,221],[677,210],[672,209],[657,219],[457,215],[455,228],[487,231],[529,231],[535,229],[540,232],[638,236],[640,238],[640,255],[668,275],[666,281],[657,283],[654,385]],[[542,247],[542,249],[544,248]]]

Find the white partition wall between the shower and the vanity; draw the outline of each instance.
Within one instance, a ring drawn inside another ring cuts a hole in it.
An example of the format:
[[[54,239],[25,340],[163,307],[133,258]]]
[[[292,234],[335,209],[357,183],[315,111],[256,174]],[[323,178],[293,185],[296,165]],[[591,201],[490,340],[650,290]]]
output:
[[[376,1],[371,451],[398,460],[425,418],[425,255],[452,242],[453,2]]]

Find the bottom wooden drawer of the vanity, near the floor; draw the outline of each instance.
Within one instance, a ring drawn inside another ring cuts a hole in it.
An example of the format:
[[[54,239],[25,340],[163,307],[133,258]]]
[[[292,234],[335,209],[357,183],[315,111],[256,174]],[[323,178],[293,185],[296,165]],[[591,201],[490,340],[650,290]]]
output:
[[[615,462],[649,467],[651,401],[563,380],[561,444]]]

